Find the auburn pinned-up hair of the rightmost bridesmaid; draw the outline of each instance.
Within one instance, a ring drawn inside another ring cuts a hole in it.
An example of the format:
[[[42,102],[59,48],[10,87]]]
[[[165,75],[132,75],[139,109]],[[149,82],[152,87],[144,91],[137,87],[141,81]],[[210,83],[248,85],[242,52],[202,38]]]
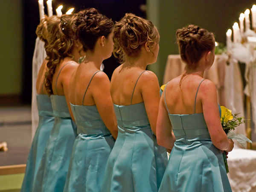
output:
[[[195,70],[197,62],[206,51],[215,47],[214,35],[199,26],[189,25],[176,32],[180,57],[188,70]]]

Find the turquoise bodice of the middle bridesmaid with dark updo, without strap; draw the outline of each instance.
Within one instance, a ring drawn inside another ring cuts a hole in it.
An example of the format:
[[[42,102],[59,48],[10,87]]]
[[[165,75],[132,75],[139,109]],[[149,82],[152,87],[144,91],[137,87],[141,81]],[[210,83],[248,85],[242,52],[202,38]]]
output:
[[[71,110],[76,120],[77,133],[87,135],[108,135],[110,132],[105,126],[96,105],[73,105]]]

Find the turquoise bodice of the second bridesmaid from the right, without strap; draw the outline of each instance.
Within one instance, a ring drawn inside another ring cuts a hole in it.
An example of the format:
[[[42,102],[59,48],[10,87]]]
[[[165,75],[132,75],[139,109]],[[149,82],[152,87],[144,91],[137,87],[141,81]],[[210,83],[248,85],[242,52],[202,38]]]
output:
[[[117,123],[119,128],[132,128],[146,126],[150,128],[144,102],[133,105],[115,105]]]

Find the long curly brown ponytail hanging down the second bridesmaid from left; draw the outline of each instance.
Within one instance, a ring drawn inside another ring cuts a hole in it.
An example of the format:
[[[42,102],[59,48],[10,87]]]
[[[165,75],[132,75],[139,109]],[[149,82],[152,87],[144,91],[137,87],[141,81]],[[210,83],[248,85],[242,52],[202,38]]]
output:
[[[45,87],[49,95],[53,94],[52,77],[56,67],[65,57],[73,58],[75,46],[72,25],[76,15],[62,15],[57,24],[48,27],[47,72],[45,74]]]

